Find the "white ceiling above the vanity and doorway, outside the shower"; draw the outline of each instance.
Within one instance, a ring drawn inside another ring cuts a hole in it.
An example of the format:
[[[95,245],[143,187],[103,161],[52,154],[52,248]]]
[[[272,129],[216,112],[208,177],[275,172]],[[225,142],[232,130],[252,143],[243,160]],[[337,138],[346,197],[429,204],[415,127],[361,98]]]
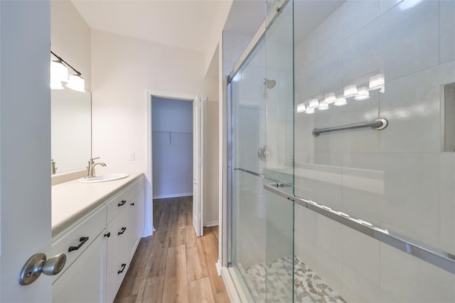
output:
[[[205,51],[224,0],[72,0],[90,28]]]

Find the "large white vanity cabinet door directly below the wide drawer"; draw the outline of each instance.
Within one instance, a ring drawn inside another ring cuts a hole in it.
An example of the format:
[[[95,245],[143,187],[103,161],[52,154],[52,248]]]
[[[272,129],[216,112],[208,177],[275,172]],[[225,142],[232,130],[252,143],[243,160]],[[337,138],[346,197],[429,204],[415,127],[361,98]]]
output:
[[[104,255],[105,238],[104,233],[101,233],[55,280],[52,287],[52,301],[58,303],[104,302]]]

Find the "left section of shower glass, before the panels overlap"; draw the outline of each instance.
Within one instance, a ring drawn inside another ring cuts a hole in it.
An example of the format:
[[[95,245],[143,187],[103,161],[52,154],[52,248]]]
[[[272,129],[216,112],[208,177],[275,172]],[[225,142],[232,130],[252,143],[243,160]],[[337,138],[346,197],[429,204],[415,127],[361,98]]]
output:
[[[246,302],[264,302],[265,217],[258,150],[265,146],[264,42],[232,79],[232,245],[231,275]],[[262,269],[262,271],[261,271]],[[257,274],[257,271],[260,271]]]

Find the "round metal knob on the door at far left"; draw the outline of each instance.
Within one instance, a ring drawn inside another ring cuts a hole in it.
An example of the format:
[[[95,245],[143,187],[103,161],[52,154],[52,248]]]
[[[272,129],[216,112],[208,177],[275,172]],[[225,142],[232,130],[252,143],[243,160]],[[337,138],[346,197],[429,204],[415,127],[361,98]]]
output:
[[[23,265],[19,274],[20,285],[30,285],[43,273],[44,275],[57,275],[65,267],[66,255],[61,253],[50,257],[49,260],[42,252],[31,256]]]

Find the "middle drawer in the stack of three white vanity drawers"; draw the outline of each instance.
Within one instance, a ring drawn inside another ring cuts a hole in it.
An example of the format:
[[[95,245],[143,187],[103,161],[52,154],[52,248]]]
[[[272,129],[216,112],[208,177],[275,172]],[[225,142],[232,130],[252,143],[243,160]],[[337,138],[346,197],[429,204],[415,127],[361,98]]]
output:
[[[125,246],[125,241],[129,235],[129,210],[123,208],[119,216],[115,217],[109,225],[107,225],[107,268],[112,264],[115,257],[117,257],[119,250]]]

